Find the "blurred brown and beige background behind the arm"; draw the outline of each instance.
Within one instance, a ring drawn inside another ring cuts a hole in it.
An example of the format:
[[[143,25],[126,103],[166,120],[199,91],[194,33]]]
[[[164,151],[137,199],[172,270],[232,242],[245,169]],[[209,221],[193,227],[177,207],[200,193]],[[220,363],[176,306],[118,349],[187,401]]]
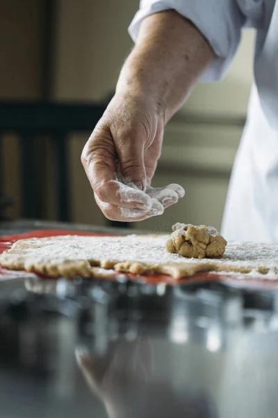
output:
[[[108,225],[81,150],[113,95],[133,42],[138,0],[0,0],[0,215]],[[154,185],[186,197],[160,217],[220,228],[252,84],[254,33],[246,31],[224,81],[199,85],[165,130]],[[8,203],[13,204],[8,206]]]

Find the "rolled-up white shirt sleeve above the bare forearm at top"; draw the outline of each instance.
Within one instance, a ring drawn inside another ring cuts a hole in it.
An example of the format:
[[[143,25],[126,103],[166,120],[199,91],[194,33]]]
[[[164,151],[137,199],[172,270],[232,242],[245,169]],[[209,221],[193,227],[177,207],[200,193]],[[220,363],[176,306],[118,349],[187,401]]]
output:
[[[176,10],[197,26],[218,56],[201,81],[219,81],[236,53],[241,29],[247,23],[245,10],[239,3],[254,3],[258,6],[258,0],[141,0],[140,10],[129,26],[129,33],[136,41],[145,17],[163,10]]]

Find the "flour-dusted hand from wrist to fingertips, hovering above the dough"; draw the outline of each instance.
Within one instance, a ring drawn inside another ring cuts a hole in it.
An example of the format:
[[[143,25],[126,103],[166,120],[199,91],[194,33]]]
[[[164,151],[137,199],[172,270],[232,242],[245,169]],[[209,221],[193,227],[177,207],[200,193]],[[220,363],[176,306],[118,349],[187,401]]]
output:
[[[150,186],[163,142],[162,109],[149,97],[116,93],[92,132],[82,163],[104,215],[116,221],[141,221],[177,203],[179,185]]]

